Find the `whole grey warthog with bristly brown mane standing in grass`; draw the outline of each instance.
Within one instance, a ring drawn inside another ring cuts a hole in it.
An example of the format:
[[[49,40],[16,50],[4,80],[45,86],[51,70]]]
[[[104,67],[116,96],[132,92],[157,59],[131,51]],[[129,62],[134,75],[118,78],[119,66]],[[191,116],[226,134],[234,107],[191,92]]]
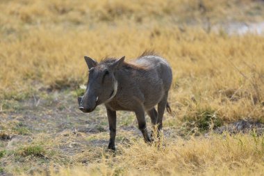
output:
[[[110,129],[108,149],[115,150],[116,111],[134,111],[144,140],[151,142],[145,111],[152,125],[158,125],[158,130],[163,125],[165,108],[171,113],[167,96],[172,84],[172,69],[167,61],[148,51],[129,63],[124,62],[124,56],[106,58],[100,63],[87,56],[84,58],[89,67],[89,79],[85,94],[78,97],[79,109],[90,113],[99,104],[106,106]]]

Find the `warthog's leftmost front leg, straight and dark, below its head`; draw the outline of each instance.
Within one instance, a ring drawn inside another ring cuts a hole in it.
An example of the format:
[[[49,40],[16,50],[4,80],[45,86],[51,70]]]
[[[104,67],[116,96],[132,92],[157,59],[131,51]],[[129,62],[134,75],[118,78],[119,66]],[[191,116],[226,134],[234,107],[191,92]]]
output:
[[[110,140],[109,140],[108,149],[115,150],[117,113],[116,111],[111,111],[108,108],[106,108],[106,111],[107,111],[107,118],[109,123],[109,130],[110,130]]]

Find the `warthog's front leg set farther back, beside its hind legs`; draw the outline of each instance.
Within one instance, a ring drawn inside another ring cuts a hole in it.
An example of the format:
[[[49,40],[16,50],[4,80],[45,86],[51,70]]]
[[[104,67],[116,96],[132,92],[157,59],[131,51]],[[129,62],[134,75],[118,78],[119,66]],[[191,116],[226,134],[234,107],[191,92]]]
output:
[[[145,111],[143,109],[138,109],[137,111],[135,111],[135,116],[137,117],[138,128],[142,132],[145,142],[150,143],[151,139],[149,138],[149,134],[147,132]]]

